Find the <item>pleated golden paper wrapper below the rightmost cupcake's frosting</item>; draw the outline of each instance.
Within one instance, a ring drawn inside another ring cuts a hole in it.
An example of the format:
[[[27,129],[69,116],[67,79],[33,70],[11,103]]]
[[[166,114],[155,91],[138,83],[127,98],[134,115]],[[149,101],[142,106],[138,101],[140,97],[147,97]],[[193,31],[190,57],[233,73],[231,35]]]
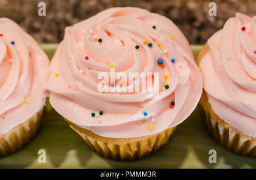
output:
[[[201,113],[203,114],[203,119],[210,135],[212,135],[222,147],[238,155],[256,157],[256,138],[243,134],[243,132],[225,122],[219,123],[203,106],[201,106]]]

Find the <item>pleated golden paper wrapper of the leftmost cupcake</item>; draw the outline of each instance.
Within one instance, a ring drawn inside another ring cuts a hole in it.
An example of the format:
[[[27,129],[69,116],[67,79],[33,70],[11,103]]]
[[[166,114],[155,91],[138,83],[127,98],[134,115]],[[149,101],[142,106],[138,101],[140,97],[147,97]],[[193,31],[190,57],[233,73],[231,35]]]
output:
[[[42,114],[43,108],[22,124],[0,135],[0,157],[11,155],[30,142],[39,129]]]

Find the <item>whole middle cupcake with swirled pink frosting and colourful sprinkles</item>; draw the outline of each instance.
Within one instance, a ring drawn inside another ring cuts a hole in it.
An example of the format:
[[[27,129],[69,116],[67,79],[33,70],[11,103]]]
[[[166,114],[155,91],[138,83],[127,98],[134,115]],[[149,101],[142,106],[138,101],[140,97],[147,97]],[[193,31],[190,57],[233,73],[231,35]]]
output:
[[[130,161],[168,142],[196,108],[203,82],[171,20],[117,7],[65,29],[47,89],[52,107],[93,151]]]

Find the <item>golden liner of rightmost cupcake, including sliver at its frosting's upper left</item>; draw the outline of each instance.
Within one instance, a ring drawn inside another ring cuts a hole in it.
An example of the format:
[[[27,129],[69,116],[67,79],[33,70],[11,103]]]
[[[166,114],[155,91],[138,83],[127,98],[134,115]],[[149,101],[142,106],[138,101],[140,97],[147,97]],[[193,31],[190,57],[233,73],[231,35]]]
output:
[[[208,49],[208,45],[205,44],[197,56],[197,65],[199,65],[200,59]],[[203,91],[201,96],[200,104],[207,130],[222,147],[239,155],[256,157],[256,138],[237,130],[237,128],[232,127],[218,117],[218,115],[213,112],[205,91]]]

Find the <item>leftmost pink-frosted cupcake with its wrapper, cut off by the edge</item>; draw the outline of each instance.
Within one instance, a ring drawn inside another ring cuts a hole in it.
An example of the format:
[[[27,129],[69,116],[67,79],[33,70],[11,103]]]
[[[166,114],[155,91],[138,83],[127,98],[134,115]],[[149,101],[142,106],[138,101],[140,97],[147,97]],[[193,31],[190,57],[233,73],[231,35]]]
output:
[[[18,24],[0,18],[0,157],[23,148],[40,125],[49,60]]]

